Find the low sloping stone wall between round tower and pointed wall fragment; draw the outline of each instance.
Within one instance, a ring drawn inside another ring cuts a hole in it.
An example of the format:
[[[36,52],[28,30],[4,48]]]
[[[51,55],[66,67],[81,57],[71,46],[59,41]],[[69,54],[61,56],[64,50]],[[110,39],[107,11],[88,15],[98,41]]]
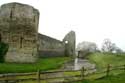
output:
[[[65,45],[62,41],[39,34],[39,56],[54,57],[65,56]]]

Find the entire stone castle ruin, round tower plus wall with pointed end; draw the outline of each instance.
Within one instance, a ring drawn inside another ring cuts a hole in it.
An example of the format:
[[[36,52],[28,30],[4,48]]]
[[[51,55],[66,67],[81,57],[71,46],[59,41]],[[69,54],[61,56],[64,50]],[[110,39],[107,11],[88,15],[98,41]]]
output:
[[[15,2],[1,6],[1,40],[9,45],[6,62],[33,63],[39,56],[75,55],[75,32],[59,41],[39,34],[38,24],[39,11],[32,6]]]

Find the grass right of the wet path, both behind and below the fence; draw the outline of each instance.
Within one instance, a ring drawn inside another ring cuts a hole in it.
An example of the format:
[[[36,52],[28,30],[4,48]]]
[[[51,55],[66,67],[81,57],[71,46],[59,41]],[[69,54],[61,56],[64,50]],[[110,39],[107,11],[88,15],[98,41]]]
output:
[[[91,63],[96,64],[97,72],[101,72],[103,70],[106,70],[107,65],[111,64],[112,67],[116,66],[122,66],[125,65],[125,55],[119,55],[116,54],[109,54],[109,53],[93,53],[89,56],[87,56],[89,61]],[[86,77],[87,80],[85,80],[83,83],[124,83],[125,80],[125,73],[124,70],[112,70],[110,71],[110,76],[106,76],[105,73],[99,73],[99,74],[92,74]],[[119,75],[121,74],[121,75]],[[102,78],[95,80],[97,78]]]

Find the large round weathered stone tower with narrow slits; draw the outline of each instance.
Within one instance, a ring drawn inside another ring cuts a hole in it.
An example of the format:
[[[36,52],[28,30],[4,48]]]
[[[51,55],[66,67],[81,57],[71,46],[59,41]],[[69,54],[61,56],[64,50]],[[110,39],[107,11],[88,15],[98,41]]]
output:
[[[0,34],[9,44],[6,62],[35,62],[37,59],[39,12],[20,3],[4,4],[0,8]]]

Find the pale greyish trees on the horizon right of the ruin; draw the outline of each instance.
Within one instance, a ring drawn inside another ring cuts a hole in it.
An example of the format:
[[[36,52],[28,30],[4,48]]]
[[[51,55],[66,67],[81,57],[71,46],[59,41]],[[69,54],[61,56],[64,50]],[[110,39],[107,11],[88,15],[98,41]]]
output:
[[[113,43],[109,38],[103,40],[101,49],[98,48],[95,42],[83,41],[77,45],[76,51],[82,51],[85,54],[93,52],[124,53],[124,51],[115,43]]]

